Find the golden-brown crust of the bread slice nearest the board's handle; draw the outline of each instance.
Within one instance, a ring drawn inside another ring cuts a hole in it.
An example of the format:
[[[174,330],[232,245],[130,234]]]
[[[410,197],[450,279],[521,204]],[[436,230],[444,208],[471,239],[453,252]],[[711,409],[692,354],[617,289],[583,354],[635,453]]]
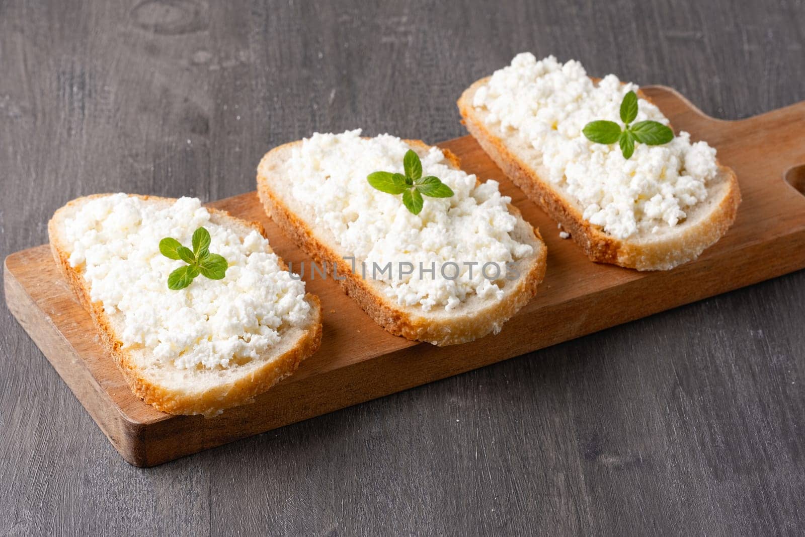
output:
[[[481,145],[489,158],[501,168],[504,174],[516,184],[526,196],[538,204],[551,218],[559,222],[573,241],[581,246],[584,253],[594,262],[634,268],[638,271],[670,270],[684,262],[695,259],[708,246],[717,242],[729,229],[741,204],[741,190],[738,188],[735,172],[719,165],[719,176],[729,183],[726,195],[705,215],[696,227],[688,227],[683,232],[663,241],[635,241],[630,238],[615,238],[605,233],[601,226],[584,220],[580,210],[565,200],[539,172],[510,150],[505,141],[493,134],[489,126],[478,117],[473,106],[473,96],[477,89],[485,85],[490,77],[476,81],[462,93],[457,105],[462,123]],[[638,91],[640,97],[650,101]]]

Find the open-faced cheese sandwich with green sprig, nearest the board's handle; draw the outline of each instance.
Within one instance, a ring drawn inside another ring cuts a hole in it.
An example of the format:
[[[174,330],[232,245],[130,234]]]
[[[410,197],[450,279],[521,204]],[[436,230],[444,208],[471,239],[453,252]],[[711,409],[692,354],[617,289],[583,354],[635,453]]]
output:
[[[458,101],[470,134],[597,262],[641,271],[695,259],[735,220],[735,174],[674,136],[634,84],[519,54]]]

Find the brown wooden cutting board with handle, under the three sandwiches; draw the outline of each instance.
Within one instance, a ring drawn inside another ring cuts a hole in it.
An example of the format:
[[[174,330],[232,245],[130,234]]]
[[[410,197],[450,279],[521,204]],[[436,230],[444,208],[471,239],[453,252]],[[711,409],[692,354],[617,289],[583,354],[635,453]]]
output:
[[[47,245],[6,258],[6,302],[118,452],[133,465],[151,466],[805,267],[805,101],[725,122],[708,118],[672,89],[645,91],[677,129],[717,147],[743,194],[725,238],[673,271],[639,273],[589,262],[572,241],[559,238],[556,224],[502,176],[473,138],[440,144],[466,171],[499,180],[548,247],[537,296],[497,336],[441,348],[406,341],[369,320],[335,282],[308,275],[308,289],[320,296],[324,312],[319,352],[254,404],[204,419],[163,414],[134,397],[89,314],[60,279]],[[287,261],[299,266],[308,260],[266,218],[255,192],[211,205],[262,222]]]

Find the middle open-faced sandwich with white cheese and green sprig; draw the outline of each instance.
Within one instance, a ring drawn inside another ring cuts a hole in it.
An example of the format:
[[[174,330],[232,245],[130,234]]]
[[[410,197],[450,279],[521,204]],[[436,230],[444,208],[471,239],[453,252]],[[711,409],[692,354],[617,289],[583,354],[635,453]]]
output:
[[[539,233],[449,151],[360,130],[276,147],[266,212],[390,333],[435,345],[497,333],[545,274]]]

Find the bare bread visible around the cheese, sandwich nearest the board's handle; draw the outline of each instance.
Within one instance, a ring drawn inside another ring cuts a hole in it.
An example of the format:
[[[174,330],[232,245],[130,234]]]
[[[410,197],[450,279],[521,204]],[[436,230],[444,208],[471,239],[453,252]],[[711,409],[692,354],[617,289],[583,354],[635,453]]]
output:
[[[559,222],[592,261],[612,263],[638,271],[667,271],[696,259],[708,246],[718,241],[735,221],[741,191],[735,172],[719,166],[715,179],[708,181],[704,202],[686,209],[684,221],[671,227],[660,226],[657,233],[638,232],[620,239],[605,233],[582,217],[584,207],[562,185],[547,180],[541,154],[516,134],[506,134],[497,125],[489,125],[489,112],[473,106],[475,93],[489,82],[487,77],[475,82],[458,100],[463,123],[489,157],[535,204]],[[642,99],[646,95],[638,92]]]

